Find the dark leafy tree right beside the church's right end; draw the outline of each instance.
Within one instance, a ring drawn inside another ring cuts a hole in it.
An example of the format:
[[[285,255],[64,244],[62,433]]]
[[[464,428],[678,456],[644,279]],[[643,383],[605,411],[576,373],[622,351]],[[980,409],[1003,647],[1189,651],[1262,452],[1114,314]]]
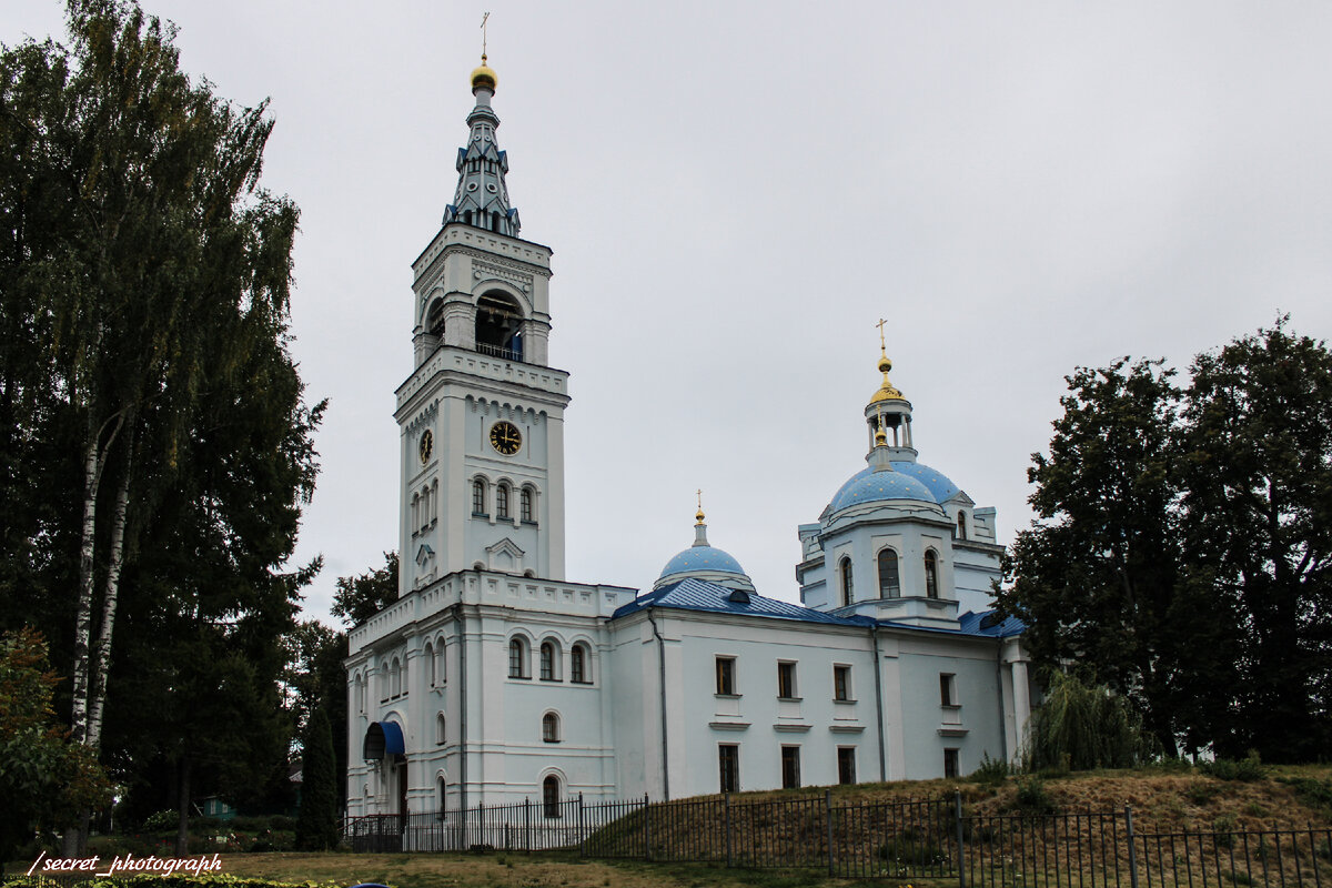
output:
[[[1128,694],[1173,748],[1179,676],[1159,644],[1179,574],[1173,371],[1124,358],[1067,382],[1050,455],[1027,470],[1036,521],[1003,556],[999,606],[1027,620],[1039,663],[1094,668],[1084,678]]]

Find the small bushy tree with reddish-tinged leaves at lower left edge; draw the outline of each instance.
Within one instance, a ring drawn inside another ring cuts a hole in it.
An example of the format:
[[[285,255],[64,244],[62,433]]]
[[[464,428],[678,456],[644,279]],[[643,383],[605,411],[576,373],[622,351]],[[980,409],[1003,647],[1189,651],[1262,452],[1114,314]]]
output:
[[[57,682],[40,634],[23,628],[0,638],[0,867],[36,829],[111,800],[92,751],[56,722]]]

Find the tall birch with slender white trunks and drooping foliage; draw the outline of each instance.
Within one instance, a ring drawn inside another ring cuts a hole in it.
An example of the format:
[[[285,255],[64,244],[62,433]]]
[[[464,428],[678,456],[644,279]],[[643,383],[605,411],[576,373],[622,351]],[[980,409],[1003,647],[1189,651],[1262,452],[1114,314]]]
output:
[[[16,177],[0,188],[0,321],[36,342],[28,365],[0,355],[0,409],[45,399],[76,430],[57,445],[80,473],[71,736],[96,751],[135,534],[178,482],[209,397],[256,366],[290,371],[297,407],[280,419],[300,441],[274,453],[304,462],[288,498],[313,486],[318,409],[285,351],[297,209],[258,185],[264,103],[237,108],[181,72],[174,28],[132,0],[69,0],[68,28],[68,47],[0,59],[0,162]]]

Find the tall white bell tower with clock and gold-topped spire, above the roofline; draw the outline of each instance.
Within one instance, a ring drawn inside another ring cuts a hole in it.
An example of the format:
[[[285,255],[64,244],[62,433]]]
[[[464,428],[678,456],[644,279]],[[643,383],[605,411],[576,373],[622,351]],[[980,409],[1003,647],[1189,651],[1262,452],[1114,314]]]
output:
[[[550,248],[518,237],[481,56],[442,226],[412,265],[413,366],[401,431],[398,594],[462,570],[563,579],[563,411],[549,366]]]

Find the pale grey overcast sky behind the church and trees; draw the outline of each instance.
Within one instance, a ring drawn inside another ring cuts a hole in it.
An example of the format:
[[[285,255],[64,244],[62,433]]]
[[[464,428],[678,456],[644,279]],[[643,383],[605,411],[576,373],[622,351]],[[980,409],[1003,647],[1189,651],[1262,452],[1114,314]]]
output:
[[[522,236],[571,373],[567,578],[647,588],[709,537],[797,600],[797,525],[894,383],[1000,542],[1063,377],[1179,366],[1292,314],[1332,337],[1332,4],[145,0],[277,128],[293,353],[329,398],[306,608],[394,549],[410,262],[457,181],[492,12]],[[63,35],[5,0],[0,40]],[[373,12],[372,12],[373,9]]]

